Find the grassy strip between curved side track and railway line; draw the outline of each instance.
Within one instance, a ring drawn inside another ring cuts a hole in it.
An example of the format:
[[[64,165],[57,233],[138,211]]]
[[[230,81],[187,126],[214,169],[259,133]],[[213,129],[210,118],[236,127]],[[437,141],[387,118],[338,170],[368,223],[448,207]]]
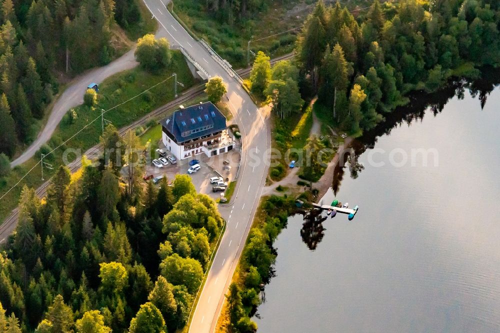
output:
[[[75,135],[65,145],[62,145],[44,159],[54,166],[53,170],[44,168],[44,178],[48,179],[58,166],[62,164],[63,152],[67,148],[77,149],[77,151],[83,153],[86,149],[99,142],[101,134],[100,119],[93,123],[90,122],[100,115],[100,108],[108,109],[121,103],[155,83],[164,80],[173,72],[176,72],[177,79],[184,83],[185,87],[183,89],[188,89],[195,83],[180,52],[173,52],[172,64],[170,68],[163,72],[151,74],[137,67],[120,72],[104,80],[100,84],[99,107],[96,110],[91,110],[83,105],[76,107],[77,118],[71,122],[68,115],[64,116],[51,139],[47,142],[47,145],[42,147],[42,150],[44,149],[45,152],[48,152],[86,126],[85,129]],[[106,112],[104,118],[110,120],[116,128],[120,128],[172,99],[173,79],[159,84],[126,104]],[[67,158],[71,161],[74,156],[74,153],[70,153],[67,155]],[[22,165],[16,166],[6,177],[0,179],[0,196],[4,195],[1,198],[2,204],[0,205],[0,218],[2,220],[17,205],[20,191],[24,184],[37,188],[43,183],[41,180],[40,165],[36,165],[39,163],[39,158],[40,155],[38,152],[33,158]],[[27,173],[29,170],[31,172]],[[12,186],[14,187],[6,193]]]

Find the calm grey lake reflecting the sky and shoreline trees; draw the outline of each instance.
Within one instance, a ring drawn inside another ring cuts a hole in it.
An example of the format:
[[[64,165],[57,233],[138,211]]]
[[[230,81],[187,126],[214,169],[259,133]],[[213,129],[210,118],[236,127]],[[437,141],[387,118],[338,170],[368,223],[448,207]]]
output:
[[[288,219],[260,332],[500,331],[500,88],[472,90],[414,101],[355,144],[323,198],[359,205],[352,221],[328,216],[311,240]],[[412,165],[417,148],[437,165]]]

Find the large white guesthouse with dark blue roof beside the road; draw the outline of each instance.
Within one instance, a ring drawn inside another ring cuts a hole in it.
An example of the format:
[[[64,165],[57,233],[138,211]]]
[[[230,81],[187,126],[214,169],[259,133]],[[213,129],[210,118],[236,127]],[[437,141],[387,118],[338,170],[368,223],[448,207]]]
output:
[[[163,144],[178,159],[200,153],[210,157],[234,149],[226,118],[211,102],[180,108],[160,123]]]

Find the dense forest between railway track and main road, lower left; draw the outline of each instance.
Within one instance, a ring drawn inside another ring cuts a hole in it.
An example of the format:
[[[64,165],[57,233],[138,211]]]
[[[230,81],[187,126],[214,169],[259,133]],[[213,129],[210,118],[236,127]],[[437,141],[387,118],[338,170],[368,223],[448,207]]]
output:
[[[0,331],[185,325],[223,220],[188,175],[144,182],[144,147],[125,136],[109,125],[101,142],[119,148],[95,163],[83,158],[72,175],[61,166],[45,198],[23,188],[0,253]],[[127,165],[122,178],[113,161]]]

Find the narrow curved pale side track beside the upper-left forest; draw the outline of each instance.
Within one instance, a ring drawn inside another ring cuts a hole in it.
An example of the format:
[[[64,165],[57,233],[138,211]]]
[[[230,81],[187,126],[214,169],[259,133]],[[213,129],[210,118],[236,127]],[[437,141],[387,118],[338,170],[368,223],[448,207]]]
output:
[[[165,36],[166,31],[159,26],[158,31],[156,32],[156,37]],[[19,157],[10,162],[10,166],[14,167],[30,159],[35,152],[50,139],[64,114],[66,114],[71,107],[75,107],[83,103],[83,94],[88,84],[92,82],[101,83],[104,79],[113,74],[135,67],[138,62],[135,61],[135,57],[133,55],[134,51],[135,46],[107,65],[91,69],[72,79],[67,88],[55,101],[52,110],[50,111],[50,115],[48,116],[47,123],[38,133],[36,139]]]

